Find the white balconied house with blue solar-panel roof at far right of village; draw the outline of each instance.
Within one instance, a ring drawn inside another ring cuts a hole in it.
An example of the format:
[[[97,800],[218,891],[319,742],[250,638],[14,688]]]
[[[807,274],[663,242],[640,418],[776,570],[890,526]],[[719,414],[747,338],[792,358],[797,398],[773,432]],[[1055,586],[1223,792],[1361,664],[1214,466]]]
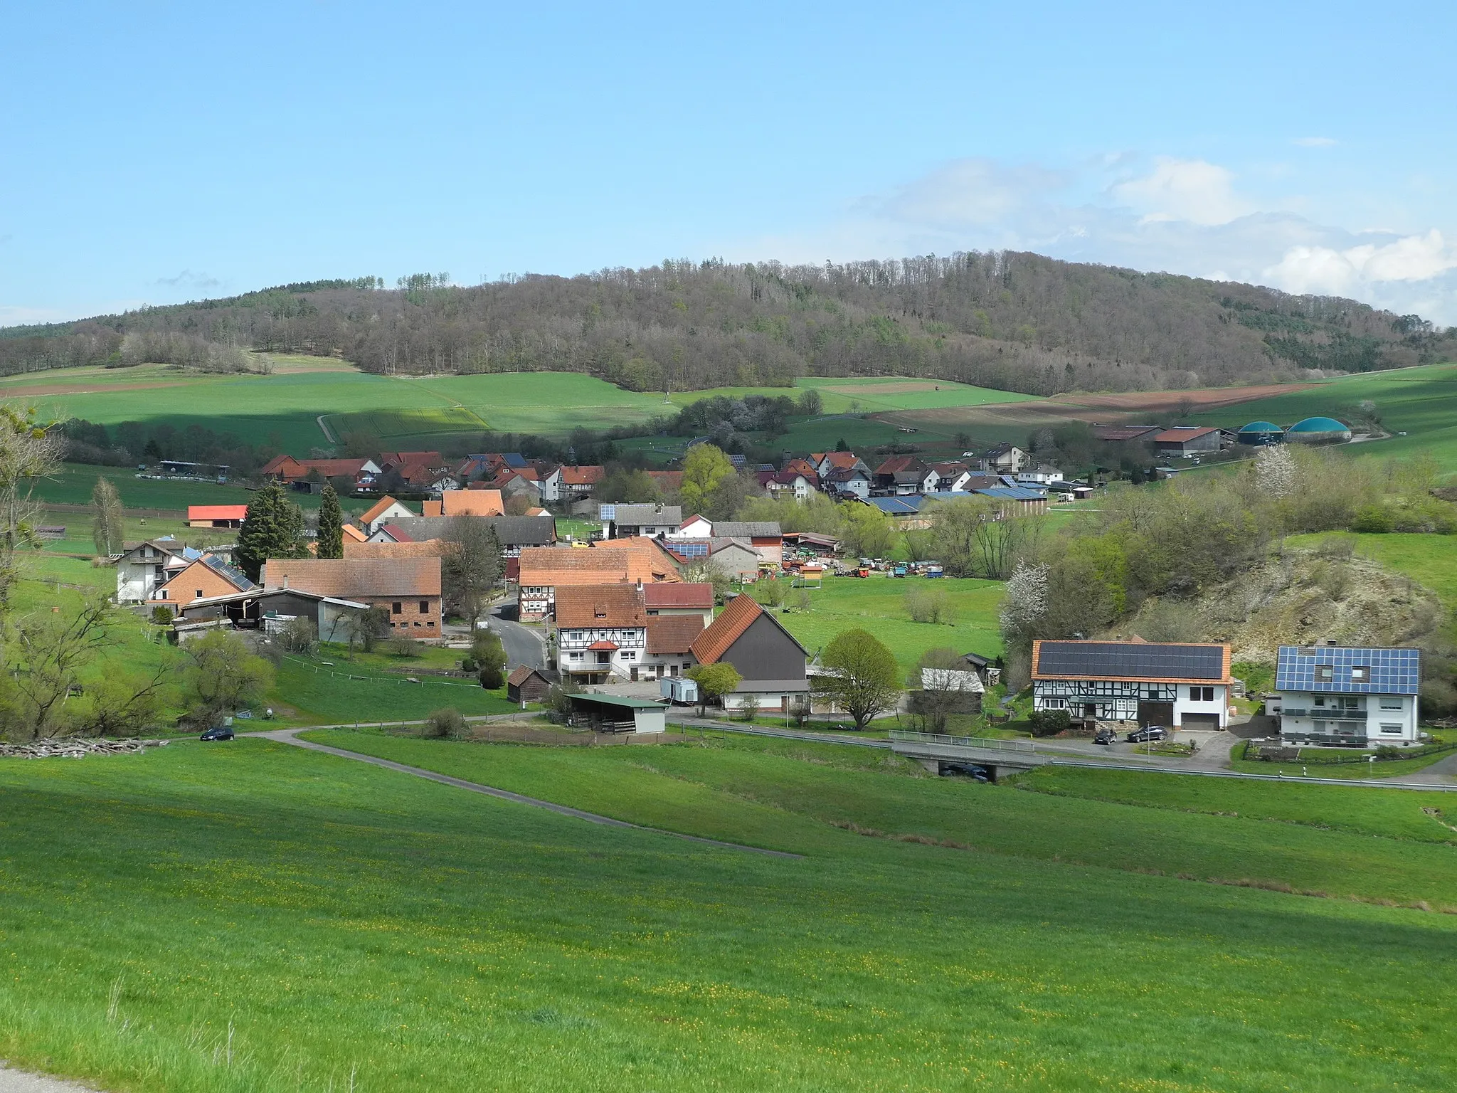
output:
[[[1285,743],[1378,748],[1419,739],[1422,650],[1352,646],[1281,646],[1275,662]]]

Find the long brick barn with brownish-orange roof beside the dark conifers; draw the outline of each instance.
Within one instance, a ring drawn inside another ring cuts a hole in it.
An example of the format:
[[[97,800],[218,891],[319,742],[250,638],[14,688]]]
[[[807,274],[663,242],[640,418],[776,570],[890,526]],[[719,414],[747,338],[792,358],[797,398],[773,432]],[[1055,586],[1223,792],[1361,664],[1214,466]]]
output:
[[[440,558],[270,558],[265,589],[300,589],[385,608],[399,637],[440,635]]]

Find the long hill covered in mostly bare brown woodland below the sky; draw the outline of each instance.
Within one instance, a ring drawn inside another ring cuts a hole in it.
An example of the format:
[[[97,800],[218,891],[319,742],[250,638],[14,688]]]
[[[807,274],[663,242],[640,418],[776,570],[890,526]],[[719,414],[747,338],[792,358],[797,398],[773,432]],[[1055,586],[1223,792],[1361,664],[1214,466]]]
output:
[[[446,275],[267,289],[0,331],[0,372],[162,360],[236,367],[254,350],[370,372],[567,370],[622,386],[918,375],[1007,391],[1135,391],[1368,372],[1457,356],[1355,300],[1061,262],[1034,254],[845,265],[663,262],[476,287]]]

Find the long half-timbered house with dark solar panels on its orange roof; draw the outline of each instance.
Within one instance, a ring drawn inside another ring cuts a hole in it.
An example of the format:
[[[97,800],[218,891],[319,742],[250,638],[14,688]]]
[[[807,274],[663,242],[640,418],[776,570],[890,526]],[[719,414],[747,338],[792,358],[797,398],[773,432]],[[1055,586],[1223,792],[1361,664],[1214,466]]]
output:
[[[1034,710],[1074,721],[1224,729],[1230,647],[1167,641],[1033,641]]]

